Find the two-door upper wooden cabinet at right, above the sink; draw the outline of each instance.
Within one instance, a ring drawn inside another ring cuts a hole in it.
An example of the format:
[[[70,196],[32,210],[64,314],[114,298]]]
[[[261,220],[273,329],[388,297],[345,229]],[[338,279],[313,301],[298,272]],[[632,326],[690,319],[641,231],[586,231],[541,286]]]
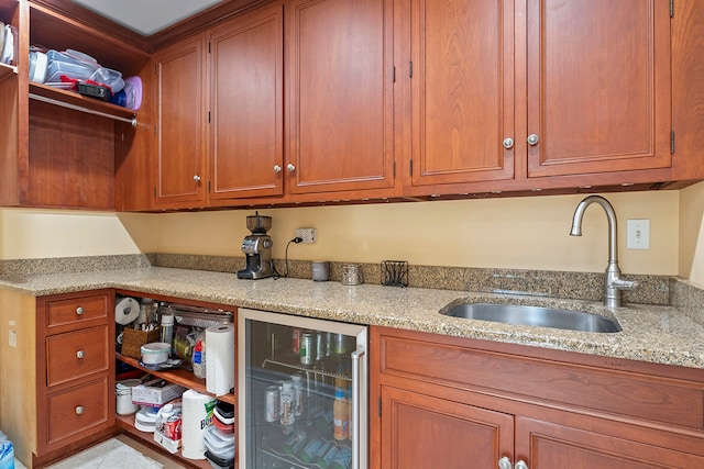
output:
[[[704,77],[672,82],[701,45],[671,45],[667,0],[414,0],[410,19],[409,194],[704,177],[684,163],[694,148],[671,154],[672,96],[701,97]]]

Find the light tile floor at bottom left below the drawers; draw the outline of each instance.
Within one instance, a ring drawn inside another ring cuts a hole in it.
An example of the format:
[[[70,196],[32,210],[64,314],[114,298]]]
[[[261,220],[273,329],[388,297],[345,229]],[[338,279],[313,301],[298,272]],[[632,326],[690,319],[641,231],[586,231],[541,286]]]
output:
[[[46,469],[179,469],[165,456],[123,435],[99,443]],[[15,469],[26,469],[15,459]]]

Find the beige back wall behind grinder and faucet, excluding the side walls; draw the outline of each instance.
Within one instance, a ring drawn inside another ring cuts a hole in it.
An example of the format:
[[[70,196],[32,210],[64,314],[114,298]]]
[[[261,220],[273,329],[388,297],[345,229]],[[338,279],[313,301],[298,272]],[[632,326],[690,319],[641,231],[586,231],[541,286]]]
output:
[[[631,273],[678,273],[679,194],[606,196],[619,223],[620,267]],[[261,210],[273,217],[274,257],[297,227],[318,230],[314,245],[290,245],[292,259],[602,271],[607,261],[604,211],[590,206],[583,236],[569,236],[582,196]],[[240,255],[254,211],[160,215],[160,252]],[[626,249],[626,220],[650,219],[649,250]]]

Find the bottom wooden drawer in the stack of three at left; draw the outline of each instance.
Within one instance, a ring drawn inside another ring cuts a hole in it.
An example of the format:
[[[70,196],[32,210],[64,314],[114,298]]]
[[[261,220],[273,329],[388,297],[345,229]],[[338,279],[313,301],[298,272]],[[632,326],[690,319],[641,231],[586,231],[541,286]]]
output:
[[[108,377],[47,397],[47,444],[68,438],[101,424],[110,424]]]

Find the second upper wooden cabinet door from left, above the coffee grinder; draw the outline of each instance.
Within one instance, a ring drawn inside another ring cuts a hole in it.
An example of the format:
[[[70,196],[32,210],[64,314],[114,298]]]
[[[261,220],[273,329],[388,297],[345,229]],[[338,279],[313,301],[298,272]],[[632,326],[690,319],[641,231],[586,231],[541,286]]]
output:
[[[283,7],[213,31],[210,199],[283,193]]]

